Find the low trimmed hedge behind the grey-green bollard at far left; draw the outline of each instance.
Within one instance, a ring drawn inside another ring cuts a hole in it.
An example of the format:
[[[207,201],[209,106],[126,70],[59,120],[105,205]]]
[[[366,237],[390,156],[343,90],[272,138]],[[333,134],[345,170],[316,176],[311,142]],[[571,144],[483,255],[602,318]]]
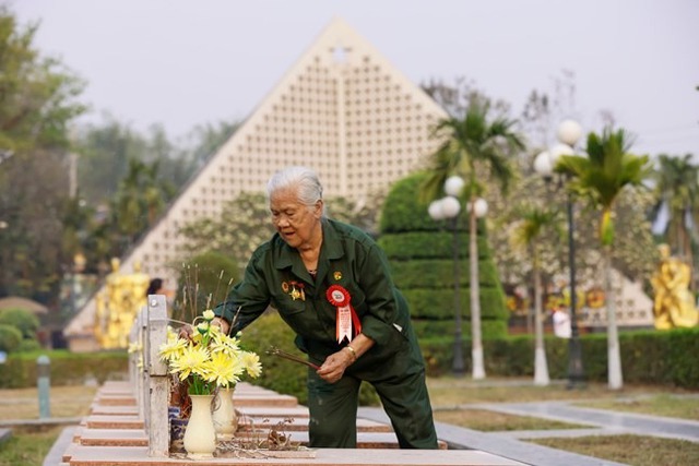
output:
[[[127,351],[70,353],[68,350],[16,353],[0,365],[0,389],[36,386],[36,358],[47,355],[51,361],[51,385],[74,385],[95,379],[103,383],[123,379],[129,362]]]

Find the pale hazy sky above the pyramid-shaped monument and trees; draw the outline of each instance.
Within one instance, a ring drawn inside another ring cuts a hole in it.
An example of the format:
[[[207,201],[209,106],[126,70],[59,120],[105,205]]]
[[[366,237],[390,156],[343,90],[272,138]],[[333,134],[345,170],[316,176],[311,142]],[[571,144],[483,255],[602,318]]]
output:
[[[108,112],[176,139],[244,119],[339,16],[416,85],[465,76],[512,118],[570,70],[564,117],[599,132],[608,111],[632,152],[699,160],[696,0],[2,1],[87,82],[85,121]]]

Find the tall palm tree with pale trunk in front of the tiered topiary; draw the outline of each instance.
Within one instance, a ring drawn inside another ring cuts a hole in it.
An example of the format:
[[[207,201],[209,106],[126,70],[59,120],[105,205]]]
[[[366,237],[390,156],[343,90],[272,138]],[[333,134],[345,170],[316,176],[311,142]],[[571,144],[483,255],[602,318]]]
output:
[[[439,195],[441,187],[451,175],[459,175],[466,180],[464,198],[469,206],[473,206],[484,190],[479,182],[486,169],[489,178],[500,184],[503,193],[514,174],[509,157],[524,144],[512,131],[516,121],[496,118],[488,122],[489,105],[474,100],[463,118],[448,117],[441,120],[435,134],[443,142],[431,155],[431,176],[423,187],[423,194],[434,200]],[[485,379],[483,362],[483,344],[481,337],[481,292],[478,282],[478,244],[477,217],[475,208],[469,208],[469,264],[471,289],[471,335],[473,379]]]

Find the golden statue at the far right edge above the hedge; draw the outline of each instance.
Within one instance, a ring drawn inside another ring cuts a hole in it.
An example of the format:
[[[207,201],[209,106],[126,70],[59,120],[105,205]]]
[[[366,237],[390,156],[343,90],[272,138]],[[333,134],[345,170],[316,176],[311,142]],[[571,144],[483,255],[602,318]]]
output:
[[[660,244],[660,263],[651,277],[655,291],[653,313],[655,328],[690,327],[697,325],[699,312],[689,291],[691,268],[670,254],[670,246]]]

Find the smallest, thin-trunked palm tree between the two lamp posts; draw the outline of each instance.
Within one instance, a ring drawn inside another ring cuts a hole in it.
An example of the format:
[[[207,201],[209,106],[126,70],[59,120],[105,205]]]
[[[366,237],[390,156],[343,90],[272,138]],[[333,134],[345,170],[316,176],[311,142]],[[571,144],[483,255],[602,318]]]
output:
[[[534,385],[548,385],[548,363],[546,362],[546,348],[544,347],[544,316],[542,306],[542,277],[541,277],[541,243],[544,231],[553,228],[559,235],[558,213],[537,206],[529,205],[520,208],[521,220],[512,235],[512,243],[516,247],[525,248],[532,254],[532,275],[534,278]]]

